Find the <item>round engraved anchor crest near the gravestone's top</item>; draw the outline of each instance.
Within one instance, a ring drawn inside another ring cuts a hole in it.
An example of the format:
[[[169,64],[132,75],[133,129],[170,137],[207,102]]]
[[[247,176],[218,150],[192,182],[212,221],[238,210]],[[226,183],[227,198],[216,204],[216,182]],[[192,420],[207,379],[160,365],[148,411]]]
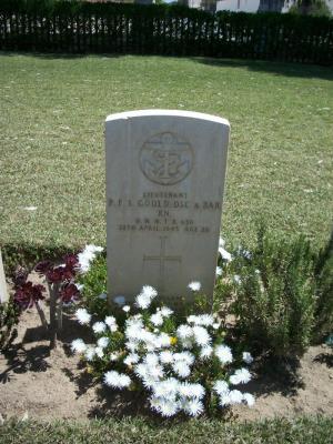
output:
[[[190,174],[193,167],[192,148],[171,132],[155,134],[141,148],[140,167],[150,181],[172,185]]]

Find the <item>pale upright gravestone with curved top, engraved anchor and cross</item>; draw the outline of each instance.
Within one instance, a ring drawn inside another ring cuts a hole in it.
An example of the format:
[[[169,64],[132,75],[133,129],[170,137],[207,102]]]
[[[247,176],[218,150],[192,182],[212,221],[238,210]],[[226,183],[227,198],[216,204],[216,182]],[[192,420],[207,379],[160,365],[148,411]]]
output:
[[[212,297],[229,122],[144,110],[105,121],[108,293],[131,301],[143,285],[176,306],[199,281]]]

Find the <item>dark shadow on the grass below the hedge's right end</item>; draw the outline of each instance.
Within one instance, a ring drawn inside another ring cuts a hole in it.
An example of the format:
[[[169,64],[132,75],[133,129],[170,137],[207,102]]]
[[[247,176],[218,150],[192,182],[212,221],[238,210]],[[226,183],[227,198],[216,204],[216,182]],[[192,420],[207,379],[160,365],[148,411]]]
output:
[[[192,60],[198,63],[218,68],[243,68],[253,72],[266,72],[275,75],[333,80],[333,68],[317,64],[266,60],[213,59],[206,57],[192,58]]]

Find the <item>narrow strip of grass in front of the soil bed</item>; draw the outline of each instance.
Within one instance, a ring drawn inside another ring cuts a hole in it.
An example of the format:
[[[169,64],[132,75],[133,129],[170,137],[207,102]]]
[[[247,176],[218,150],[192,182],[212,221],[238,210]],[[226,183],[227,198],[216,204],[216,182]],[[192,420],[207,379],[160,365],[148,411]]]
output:
[[[91,421],[89,423],[13,423],[0,426],[1,444],[329,444],[333,420],[303,417],[258,423],[228,424],[193,420],[186,423],[147,423],[137,420]]]

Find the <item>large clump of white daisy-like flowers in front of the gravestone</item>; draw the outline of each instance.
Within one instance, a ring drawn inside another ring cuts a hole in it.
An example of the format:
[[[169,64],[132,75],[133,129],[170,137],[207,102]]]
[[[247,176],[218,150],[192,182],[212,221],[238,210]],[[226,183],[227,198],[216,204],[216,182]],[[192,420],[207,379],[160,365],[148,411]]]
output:
[[[200,291],[201,284],[193,281],[189,287]],[[218,314],[192,314],[179,324],[168,306],[151,310],[157,296],[157,290],[145,285],[133,306],[119,300],[119,320],[108,315],[103,321],[91,322],[88,311],[79,309],[78,321],[91,324],[97,343],[88,345],[77,339],[72,351],[88,362],[101,360],[99,366],[103,364],[105,369],[103,382],[111,389],[124,390],[139,382],[151,408],[165,417],[179,413],[199,416],[211,393],[220,407],[241,403],[252,406],[254,397],[242,393],[239,386],[251,380],[244,364],[251,364],[253,357],[243,352],[243,366],[236,365],[240,360],[223,343]],[[210,369],[213,374],[209,374]]]

